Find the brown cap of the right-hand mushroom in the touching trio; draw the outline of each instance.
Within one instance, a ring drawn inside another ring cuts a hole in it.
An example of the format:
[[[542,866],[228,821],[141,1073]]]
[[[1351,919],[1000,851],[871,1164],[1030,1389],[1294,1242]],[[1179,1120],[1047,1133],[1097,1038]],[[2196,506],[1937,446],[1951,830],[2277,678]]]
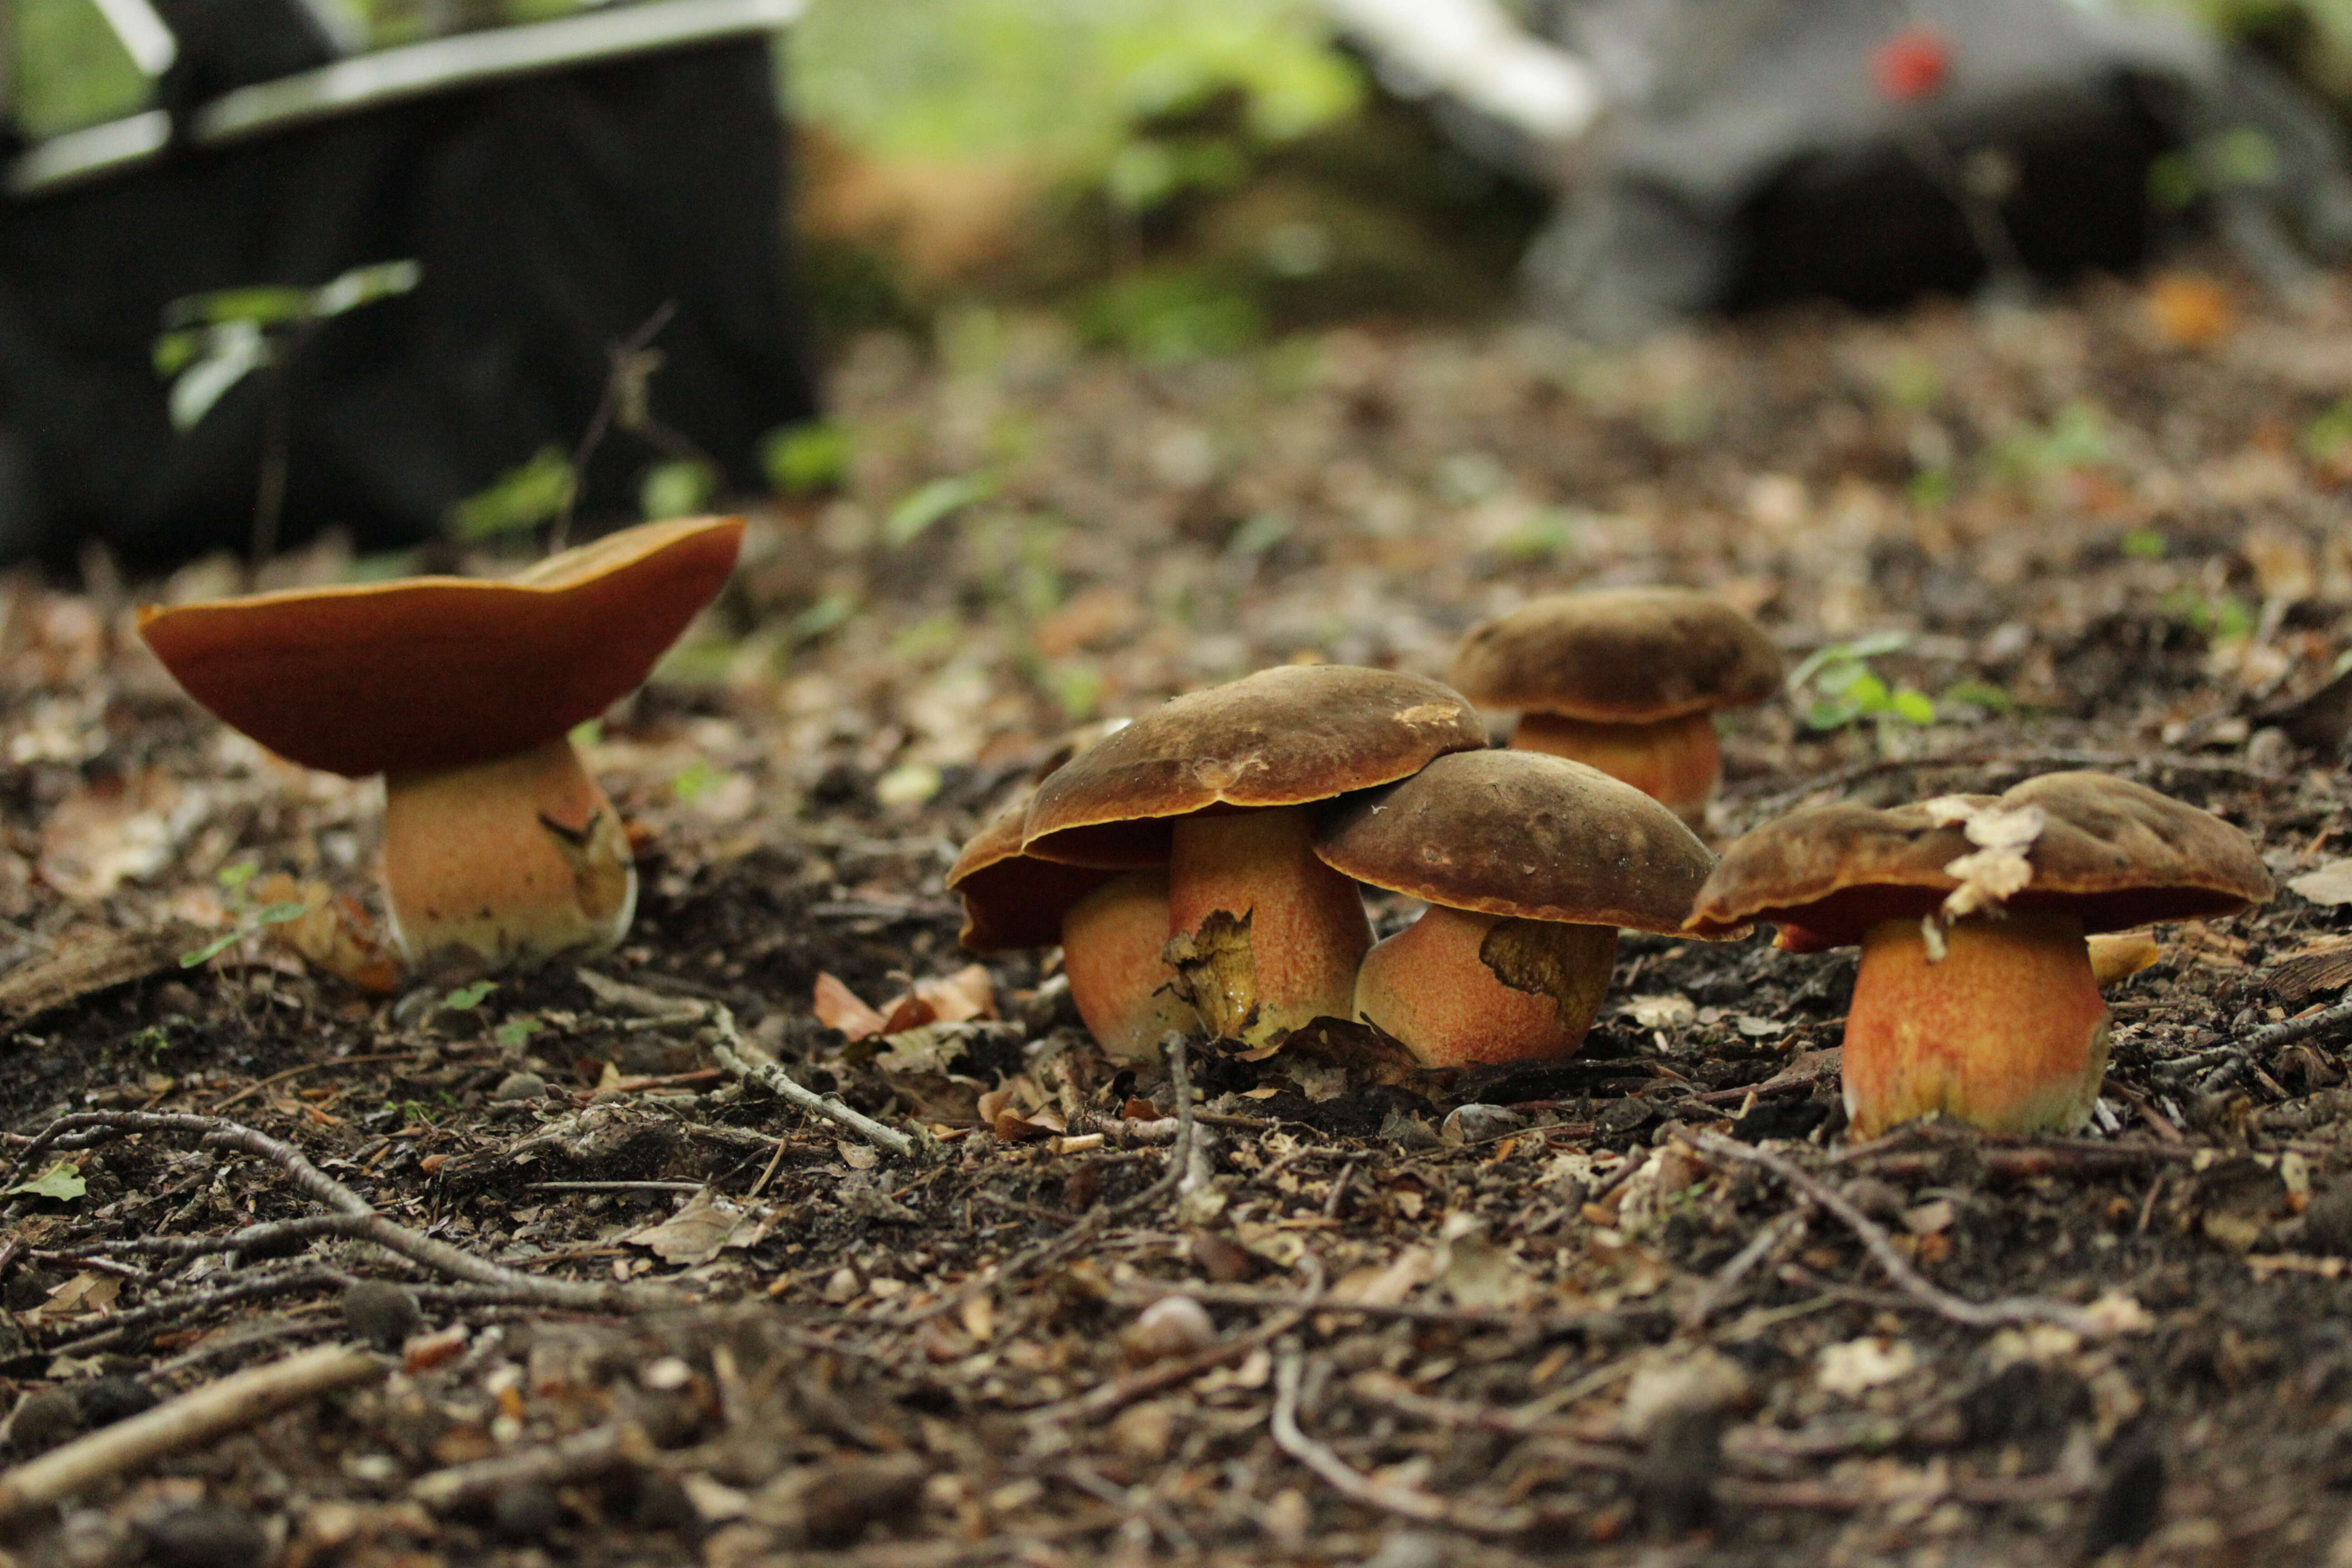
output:
[[[1458,752],[1341,802],[1315,853],[1425,903],[1679,931],[1715,856],[1628,783],[1543,752]]]

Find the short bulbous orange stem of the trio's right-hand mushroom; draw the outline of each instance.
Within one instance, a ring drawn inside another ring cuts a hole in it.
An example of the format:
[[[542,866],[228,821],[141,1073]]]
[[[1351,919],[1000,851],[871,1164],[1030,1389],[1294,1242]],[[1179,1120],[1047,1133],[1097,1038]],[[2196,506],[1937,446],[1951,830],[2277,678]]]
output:
[[[1496,926],[1517,938],[1522,964],[1496,969]],[[1613,966],[1613,926],[1430,905],[1364,954],[1355,1011],[1430,1067],[1557,1060],[1583,1046]]]

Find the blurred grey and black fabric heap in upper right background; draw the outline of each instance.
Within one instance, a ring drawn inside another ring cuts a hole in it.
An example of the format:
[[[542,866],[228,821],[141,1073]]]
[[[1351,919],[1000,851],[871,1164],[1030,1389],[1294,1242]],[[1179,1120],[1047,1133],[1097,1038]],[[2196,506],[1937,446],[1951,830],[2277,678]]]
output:
[[[1613,101],[1573,165],[1548,169],[1564,197],[1526,256],[1536,303],[1595,339],[1795,296],[1891,306],[2131,268],[2171,221],[2147,195],[2166,153],[2204,167],[2190,216],[2265,280],[2288,284],[2307,256],[2352,249],[2328,110],[2147,9],[1564,0],[1538,26]],[[1872,56],[1915,26],[1950,45],[1950,73],[1896,103]],[[2272,179],[2251,176],[2249,146],[2267,148]],[[1529,150],[1517,158],[1524,169]]]

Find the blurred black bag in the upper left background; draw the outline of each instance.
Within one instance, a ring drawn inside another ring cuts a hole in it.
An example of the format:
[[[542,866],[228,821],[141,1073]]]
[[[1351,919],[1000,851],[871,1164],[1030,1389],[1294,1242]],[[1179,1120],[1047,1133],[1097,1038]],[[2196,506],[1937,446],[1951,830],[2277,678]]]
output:
[[[280,371],[282,543],[329,524],[362,550],[416,543],[541,449],[569,454],[609,350],[670,303],[652,414],[729,489],[764,489],[762,437],[816,414],[767,38],[572,66],[0,202],[0,562],[242,550],[268,376],[176,433],[165,308],[383,261],[416,261],[414,292],[320,322]],[[607,437],[581,515],[633,517],[659,456]]]

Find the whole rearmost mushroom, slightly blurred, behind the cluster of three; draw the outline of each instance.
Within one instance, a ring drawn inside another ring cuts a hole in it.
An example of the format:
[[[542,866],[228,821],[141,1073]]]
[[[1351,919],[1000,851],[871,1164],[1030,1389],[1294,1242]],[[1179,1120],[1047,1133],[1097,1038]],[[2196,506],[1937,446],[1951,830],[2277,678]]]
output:
[[[1510,743],[1597,766],[1693,827],[1722,776],[1715,710],[1780,689],[1780,649],[1755,621],[1689,588],[1534,599],[1470,628],[1454,689],[1515,708]]]

